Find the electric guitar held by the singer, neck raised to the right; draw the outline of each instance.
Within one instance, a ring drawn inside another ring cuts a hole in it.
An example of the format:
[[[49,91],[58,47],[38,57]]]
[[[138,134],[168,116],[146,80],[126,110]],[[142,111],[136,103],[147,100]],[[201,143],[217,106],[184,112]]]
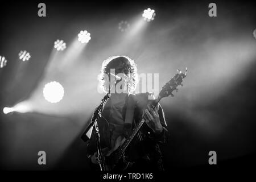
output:
[[[176,90],[176,92],[178,91],[177,86],[179,85],[183,86],[181,82],[183,81],[183,78],[185,78],[186,76],[187,76],[187,68],[185,69],[185,73],[181,72],[178,69],[178,73],[163,86],[162,90],[159,93],[159,96],[151,102],[151,105],[153,107],[156,107],[158,105],[158,102],[162,98],[168,97],[170,95],[174,97],[174,94],[172,94],[172,92],[174,90]],[[142,119],[141,122],[139,122],[138,126],[131,131],[131,134],[129,135],[129,137],[127,137],[126,139],[118,137],[114,147],[111,150],[104,152],[107,170],[123,171],[126,168],[129,168],[133,164],[125,160],[125,151],[126,151],[126,148],[129,146],[129,144],[131,143],[131,141],[133,140],[133,138],[135,137],[135,135],[141,129],[144,122],[145,120]]]

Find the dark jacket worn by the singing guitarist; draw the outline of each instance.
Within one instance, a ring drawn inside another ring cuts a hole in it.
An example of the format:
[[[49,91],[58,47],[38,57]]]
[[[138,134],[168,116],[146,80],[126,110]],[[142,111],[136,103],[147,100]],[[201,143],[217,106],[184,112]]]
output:
[[[138,125],[142,120],[143,110],[146,109],[146,105],[150,100],[148,100],[148,93],[136,94],[136,105],[134,110],[133,118],[133,128]],[[159,148],[159,144],[166,143],[168,138],[168,130],[166,121],[164,118],[164,113],[162,107],[158,104],[158,114],[160,122],[163,126],[163,131],[159,135],[155,135],[153,131],[146,125],[143,124],[141,130],[134,137],[133,141],[130,143],[129,147],[126,150],[127,160],[134,162],[134,165],[131,169],[136,171],[147,170],[150,171],[163,171],[162,164],[162,153]],[[110,135],[111,130],[109,128],[108,118],[105,116],[108,115],[108,110],[104,110],[102,113],[102,118],[98,119],[98,127],[100,128],[101,136],[101,147],[110,146]],[[82,135],[82,139],[85,138],[85,133]],[[90,156],[96,152],[96,137],[95,132],[93,131],[92,137],[88,141],[87,156],[90,162]],[[94,165],[91,164],[93,167]]]

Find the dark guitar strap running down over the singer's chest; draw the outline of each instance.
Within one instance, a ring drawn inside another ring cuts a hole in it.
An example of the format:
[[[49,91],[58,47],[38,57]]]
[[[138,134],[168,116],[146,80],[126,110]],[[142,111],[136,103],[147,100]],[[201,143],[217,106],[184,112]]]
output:
[[[127,98],[126,113],[125,113],[125,124],[123,126],[123,134],[127,137],[131,131],[134,118],[134,109],[136,105],[135,96],[129,94]]]

